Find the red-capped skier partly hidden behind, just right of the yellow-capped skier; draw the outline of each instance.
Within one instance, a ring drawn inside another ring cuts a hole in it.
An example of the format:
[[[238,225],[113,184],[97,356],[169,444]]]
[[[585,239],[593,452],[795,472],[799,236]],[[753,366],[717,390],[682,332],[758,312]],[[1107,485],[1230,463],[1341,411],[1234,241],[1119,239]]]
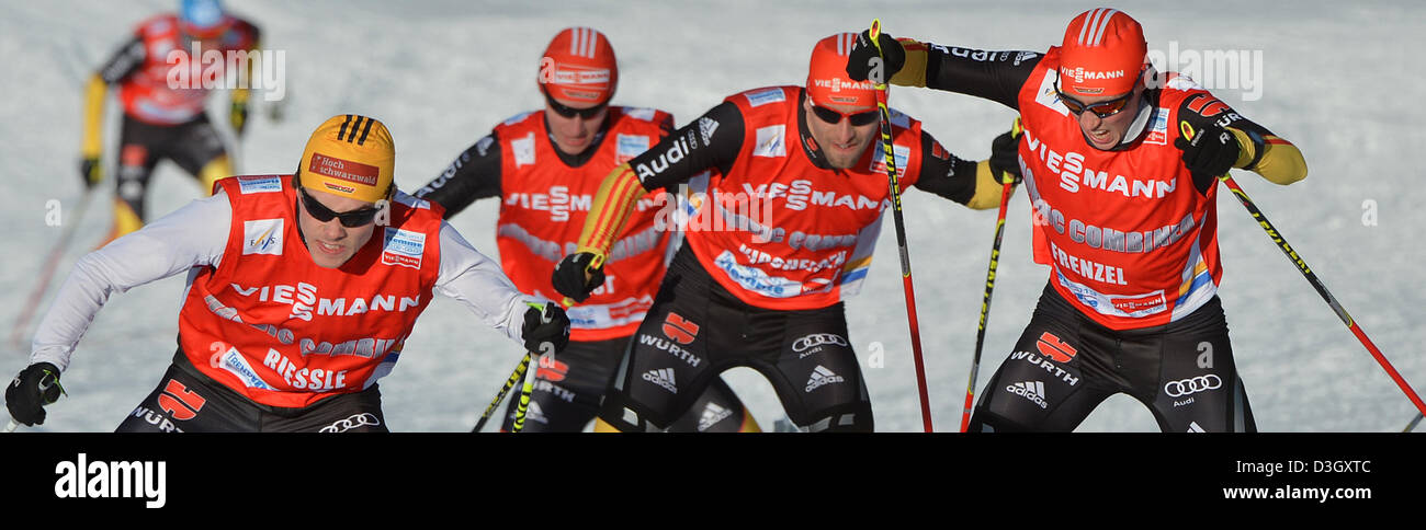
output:
[[[673,130],[653,108],[610,105],[619,64],[609,38],[588,27],[559,31],[539,64],[542,111],[522,113],[461,152],[416,197],[446,207],[445,215],[496,197],[496,244],[515,285],[559,298],[549,284],[555,264],[575,249],[589,204],[609,168],[643,152]],[[673,229],[655,225],[659,202],[643,201],[615,244],[603,284],[568,309],[570,345],[538,362],[523,432],[579,432],[595,419],[633,332],[667,269]],[[503,425],[513,422],[515,400]],[[673,430],[757,430],[722,379],[714,379]]]

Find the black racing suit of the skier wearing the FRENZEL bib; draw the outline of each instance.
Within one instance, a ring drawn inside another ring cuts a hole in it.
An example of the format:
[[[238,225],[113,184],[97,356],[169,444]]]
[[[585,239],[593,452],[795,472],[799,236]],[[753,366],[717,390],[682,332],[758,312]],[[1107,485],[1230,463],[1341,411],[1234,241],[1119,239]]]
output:
[[[1032,51],[928,46],[925,85],[1018,110],[1021,87],[1042,58]],[[1161,90],[1141,104],[1156,107]],[[1195,128],[1214,118],[1191,108],[1178,115]],[[1271,132],[1238,115],[1232,127],[1258,138]],[[1131,145],[1132,142],[1127,142]],[[1259,145],[1259,154],[1263,150]],[[1251,165],[1249,165],[1251,167]],[[1199,192],[1216,181],[1195,181]],[[1079,313],[1051,286],[1040,298],[1010,358],[991,376],[970,432],[1068,432],[1104,399],[1128,393],[1154,412],[1164,432],[1255,432],[1238,378],[1222,302],[1212,301],[1162,326],[1109,329]]]

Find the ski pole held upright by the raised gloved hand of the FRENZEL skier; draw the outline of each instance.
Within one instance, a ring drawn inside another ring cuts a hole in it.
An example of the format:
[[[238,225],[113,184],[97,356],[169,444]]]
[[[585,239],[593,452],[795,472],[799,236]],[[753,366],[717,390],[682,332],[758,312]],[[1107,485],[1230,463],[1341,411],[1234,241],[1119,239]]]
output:
[[[877,41],[877,37],[881,36],[881,19],[871,21],[870,33],[871,44],[877,47],[877,60],[886,64],[881,43]],[[896,219],[896,242],[901,255],[901,286],[906,292],[907,323],[911,328],[911,355],[915,360],[915,385],[921,398],[921,425],[925,432],[933,432],[931,403],[925,392],[925,365],[921,359],[921,331],[915,318],[915,289],[911,286],[911,256],[907,254],[906,221],[901,218],[901,182],[897,178],[896,151],[891,147],[891,111],[887,108],[886,74],[881,68],[871,70],[876,73],[873,76],[876,78],[871,81],[876,84],[877,90],[877,111],[881,114],[881,150],[886,152],[887,158],[887,184],[891,188],[891,218]]]

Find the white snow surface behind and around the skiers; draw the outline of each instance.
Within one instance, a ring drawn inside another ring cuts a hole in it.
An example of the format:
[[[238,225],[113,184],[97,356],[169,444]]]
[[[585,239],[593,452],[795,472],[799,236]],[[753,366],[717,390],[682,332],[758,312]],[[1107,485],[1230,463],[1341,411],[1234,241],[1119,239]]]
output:
[[[29,296],[46,252],[61,231],[47,227],[47,201],[66,214],[81,194],[76,178],[81,83],[140,20],[173,1],[3,0],[0,57],[0,219],[16,251],[0,265],[0,322],[6,333]],[[396,182],[415,189],[492,125],[542,104],[535,90],[539,53],[568,26],[610,36],[620,58],[616,104],[673,111],[679,124],[724,95],[771,84],[801,84],[811,43],[864,28],[943,44],[1044,51],[1088,3],[980,1],[610,1],[559,9],[503,1],[262,1],[232,0],[255,20],[264,46],[287,53],[287,120],[257,108],[242,141],[240,171],[287,172],[318,123],[361,113],[384,120],[401,147]],[[1048,6],[1047,6],[1048,4]],[[1419,155],[1426,145],[1420,88],[1426,10],[1415,1],[1117,1],[1145,27],[1152,50],[1261,50],[1263,91],[1215,93],[1245,115],[1291,138],[1310,167],[1283,188],[1252,174],[1238,181],[1286,239],[1352,312],[1387,359],[1426,388],[1417,331],[1426,311],[1417,272],[1426,254],[1416,228],[1426,214]],[[220,94],[210,105],[227,123]],[[896,88],[893,105],[923,120],[951,151],[990,152],[1012,111],[984,100]],[[117,141],[110,98],[106,141]],[[110,161],[113,152],[107,154]],[[113,167],[113,165],[110,165]],[[111,171],[110,171],[111,172]],[[110,177],[111,178],[111,177]],[[93,201],[61,272],[108,229],[113,184]],[[150,188],[150,211],[171,211],[198,187],[164,164]],[[1226,192],[1221,192],[1226,195]],[[1375,201],[1378,224],[1363,222]],[[1393,432],[1415,409],[1263,231],[1231,197],[1219,199],[1224,306],[1233,350],[1266,432]],[[974,212],[913,192],[906,198],[930,398],[938,430],[955,430],[975,343],[994,211]],[[1011,202],[977,396],[1005,358],[1048,269],[1030,261],[1024,194]],[[483,202],[455,219],[478,248],[495,252],[496,205]],[[890,222],[887,222],[890,225]],[[900,288],[896,235],[886,229],[863,293],[847,305],[853,345],[864,360],[878,430],[920,430],[920,409]],[[1413,265],[1417,264],[1417,265]],[[1417,279],[1412,279],[1417,278]],[[57,279],[58,281],[58,279]],[[36,430],[111,430],[158,383],[174,352],[183,278],[116,295],[97,316],[64,373],[68,396]],[[47,302],[46,302],[47,306]],[[866,366],[874,343],[883,368]],[[519,359],[518,346],[471,325],[453,302],[438,299],[416,326],[396,370],[382,380],[394,430],[468,430]],[[0,373],[27,365],[7,350]],[[761,376],[726,373],[764,427],[781,409]],[[1082,432],[1152,432],[1144,406],[1115,396]]]

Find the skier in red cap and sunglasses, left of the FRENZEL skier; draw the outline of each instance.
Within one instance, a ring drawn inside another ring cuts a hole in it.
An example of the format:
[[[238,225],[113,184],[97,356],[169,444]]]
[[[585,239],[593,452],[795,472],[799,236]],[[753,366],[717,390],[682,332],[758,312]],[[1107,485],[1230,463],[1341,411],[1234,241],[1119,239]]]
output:
[[[640,198],[690,181],[700,192],[596,430],[666,429],[732,366],[763,373],[801,430],[873,430],[841,301],[870,268],[890,192],[876,91],[843,71],[854,38],[820,40],[806,87],[730,95],[605,178],[553,275],[575,299],[600,285]],[[906,114],[891,123],[903,187],[1000,205],[988,162],[951,155]]]

